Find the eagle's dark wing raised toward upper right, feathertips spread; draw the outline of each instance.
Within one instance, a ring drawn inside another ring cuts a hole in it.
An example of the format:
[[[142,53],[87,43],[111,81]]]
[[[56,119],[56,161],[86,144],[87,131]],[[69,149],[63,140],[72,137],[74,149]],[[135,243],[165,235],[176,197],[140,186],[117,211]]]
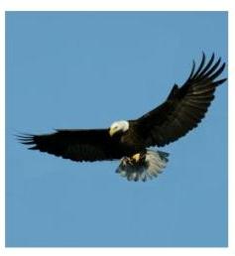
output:
[[[146,146],[165,146],[198,125],[214,98],[215,88],[226,80],[216,79],[224,67],[221,59],[214,62],[214,54],[207,64],[203,54],[196,70],[193,62],[184,84],[181,87],[175,84],[162,105],[136,120]]]

